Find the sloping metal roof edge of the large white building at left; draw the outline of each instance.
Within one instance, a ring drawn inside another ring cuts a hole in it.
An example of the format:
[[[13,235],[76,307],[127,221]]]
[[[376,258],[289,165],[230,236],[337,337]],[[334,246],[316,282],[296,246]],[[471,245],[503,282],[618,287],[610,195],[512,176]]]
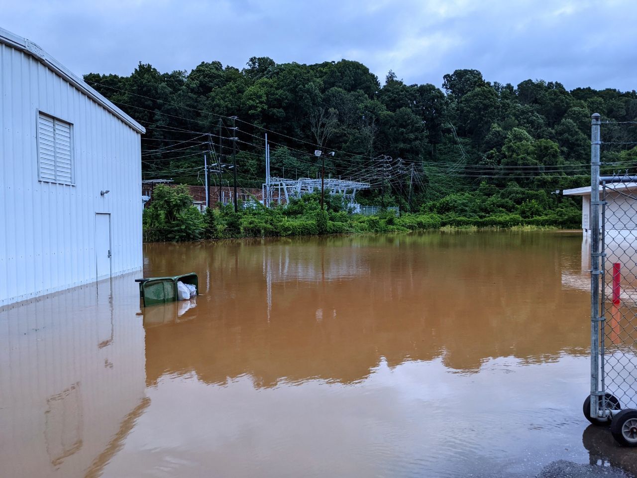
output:
[[[62,78],[64,78],[64,80],[71,83],[73,87],[95,101],[98,105],[103,106],[103,108],[108,110],[108,112],[125,122],[125,124],[130,126],[132,129],[138,131],[138,133],[140,134],[146,133],[146,129],[141,126],[141,124],[136,122],[129,115],[127,115],[117,106],[113,105],[113,103],[108,101],[108,99],[104,98],[104,96],[92,89],[84,82],[84,80],[82,80],[82,78],[75,75],[75,73],[72,73],[54,57],[52,57],[47,52],[45,52],[45,50],[36,45],[36,43],[33,43],[31,40],[27,40],[22,36],[11,33],[10,31],[3,28],[0,28],[0,43],[4,43],[4,45],[8,45],[11,48],[20,50],[27,55],[31,55],[34,59],[47,66],[47,68],[53,71],[56,75],[61,76]]]

